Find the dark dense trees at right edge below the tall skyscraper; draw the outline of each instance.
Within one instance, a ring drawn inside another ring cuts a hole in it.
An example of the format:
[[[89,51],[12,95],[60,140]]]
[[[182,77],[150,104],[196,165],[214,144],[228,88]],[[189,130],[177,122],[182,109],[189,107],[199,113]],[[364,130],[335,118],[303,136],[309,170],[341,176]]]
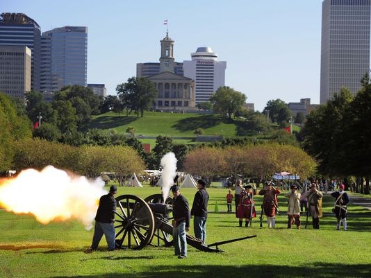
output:
[[[306,116],[300,132],[302,146],[316,159],[318,172],[324,177],[342,178],[346,186],[356,182],[361,184],[361,193],[369,193],[370,123],[371,85],[367,74],[355,96],[343,88]]]

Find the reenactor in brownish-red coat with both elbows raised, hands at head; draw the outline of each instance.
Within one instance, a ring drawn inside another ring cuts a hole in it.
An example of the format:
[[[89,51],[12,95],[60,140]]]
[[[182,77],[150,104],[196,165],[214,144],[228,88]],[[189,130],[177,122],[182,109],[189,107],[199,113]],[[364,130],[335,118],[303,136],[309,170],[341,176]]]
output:
[[[274,228],[276,225],[276,211],[278,211],[277,195],[281,193],[279,189],[274,187],[273,182],[265,182],[265,187],[259,191],[259,195],[263,196],[264,214],[267,216],[268,227]]]

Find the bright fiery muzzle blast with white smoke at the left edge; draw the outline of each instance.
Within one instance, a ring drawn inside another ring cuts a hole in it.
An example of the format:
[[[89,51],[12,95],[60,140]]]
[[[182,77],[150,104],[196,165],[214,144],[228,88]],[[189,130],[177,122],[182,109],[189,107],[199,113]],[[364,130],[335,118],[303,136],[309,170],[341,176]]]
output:
[[[44,225],[76,219],[90,229],[99,198],[107,193],[103,186],[101,178],[92,181],[53,166],[27,169],[15,178],[0,180],[0,207],[15,214],[33,214]]]

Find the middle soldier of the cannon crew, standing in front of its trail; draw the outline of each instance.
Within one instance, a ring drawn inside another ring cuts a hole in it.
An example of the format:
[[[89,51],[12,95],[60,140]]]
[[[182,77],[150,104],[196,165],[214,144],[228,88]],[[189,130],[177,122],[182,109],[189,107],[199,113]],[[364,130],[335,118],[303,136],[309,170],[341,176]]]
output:
[[[181,195],[179,187],[173,185],[170,190],[174,198],[173,203],[173,229],[172,238],[174,241],[175,255],[178,259],[187,257],[187,232],[190,229],[190,207],[186,197]]]

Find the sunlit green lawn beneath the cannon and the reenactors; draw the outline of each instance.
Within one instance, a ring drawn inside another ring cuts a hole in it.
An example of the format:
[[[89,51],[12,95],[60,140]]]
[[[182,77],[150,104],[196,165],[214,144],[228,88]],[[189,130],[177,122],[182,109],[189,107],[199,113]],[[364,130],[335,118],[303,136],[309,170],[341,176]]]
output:
[[[225,252],[206,253],[188,245],[188,258],[174,257],[172,247],[148,246],[142,250],[106,252],[106,242],[92,254],[83,251],[90,246],[92,230],[80,223],[42,225],[31,216],[19,216],[0,210],[0,277],[371,277],[371,211],[349,206],[349,229],[336,231],[331,215],[333,198],[324,198],[324,218],[320,230],[286,229],[286,198],[279,197],[281,216],[277,227],[237,227],[234,214],[226,214],[226,189],[208,189],[206,242],[257,235],[246,241],[221,245]],[[158,188],[121,187],[117,196],[133,194],[145,198],[160,193]],[[195,189],[182,193],[192,203]],[[50,198],[53,198],[51,193]],[[261,197],[256,196],[260,208]],[[219,213],[214,213],[215,202]],[[260,209],[258,209],[260,213]],[[192,225],[191,231],[192,232]]]

